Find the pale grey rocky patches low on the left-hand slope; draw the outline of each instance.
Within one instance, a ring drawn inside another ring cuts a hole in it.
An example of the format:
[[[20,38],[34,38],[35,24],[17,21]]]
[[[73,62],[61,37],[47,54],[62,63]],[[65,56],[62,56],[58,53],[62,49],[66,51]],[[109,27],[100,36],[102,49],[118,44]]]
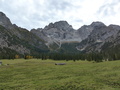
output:
[[[12,34],[8,32],[5,28],[0,28],[0,48],[8,48],[11,50],[15,50],[20,54],[28,53],[30,54],[30,50],[20,45],[19,43],[15,44],[13,42],[15,39],[12,37]]]

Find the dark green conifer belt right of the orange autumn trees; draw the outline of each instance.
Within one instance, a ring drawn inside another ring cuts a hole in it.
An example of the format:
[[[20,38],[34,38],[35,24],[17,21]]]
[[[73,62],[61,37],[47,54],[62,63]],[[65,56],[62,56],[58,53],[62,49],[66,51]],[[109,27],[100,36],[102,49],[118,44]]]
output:
[[[102,61],[113,61],[113,60],[120,60],[120,53],[50,53],[50,54],[40,54],[38,56],[34,56],[34,58],[37,59],[53,59],[53,60],[88,60],[88,61],[96,61],[96,62],[102,62]]]

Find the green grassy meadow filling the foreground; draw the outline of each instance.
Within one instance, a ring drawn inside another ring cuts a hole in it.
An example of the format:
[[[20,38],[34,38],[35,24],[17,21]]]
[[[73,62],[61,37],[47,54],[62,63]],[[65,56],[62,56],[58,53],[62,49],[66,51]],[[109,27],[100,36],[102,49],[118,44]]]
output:
[[[120,90],[119,60],[101,63],[39,59],[0,61],[3,62],[0,90]]]

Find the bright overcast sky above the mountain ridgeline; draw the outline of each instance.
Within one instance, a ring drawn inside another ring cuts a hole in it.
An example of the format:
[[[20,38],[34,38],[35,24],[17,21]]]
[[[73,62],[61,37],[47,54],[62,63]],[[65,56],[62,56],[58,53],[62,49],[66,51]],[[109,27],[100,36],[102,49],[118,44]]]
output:
[[[0,0],[0,11],[29,30],[60,20],[75,29],[93,21],[120,25],[120,0]]]

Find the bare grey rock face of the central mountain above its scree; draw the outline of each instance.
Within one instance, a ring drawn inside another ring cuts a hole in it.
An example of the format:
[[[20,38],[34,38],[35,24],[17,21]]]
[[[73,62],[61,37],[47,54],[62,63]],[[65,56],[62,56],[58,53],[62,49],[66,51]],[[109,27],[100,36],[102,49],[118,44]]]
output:
[[[81,42],[76,30],[66,21],[50,23],[44,29],[31,30],[32,33],[46,41],[46,45],[57,44],[58,48],[62,43]]]

